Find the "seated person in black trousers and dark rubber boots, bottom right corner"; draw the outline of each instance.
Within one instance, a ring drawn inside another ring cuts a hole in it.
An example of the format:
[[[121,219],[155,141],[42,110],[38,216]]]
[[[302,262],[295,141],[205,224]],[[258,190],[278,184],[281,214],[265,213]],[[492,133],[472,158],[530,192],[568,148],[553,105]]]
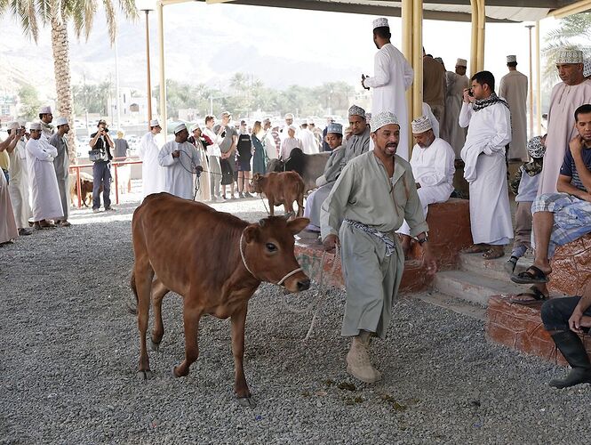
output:
[[[582,297],[553,298],[544,303],[541,316],[544,328],[572,368],[568,376],[550,380],[550,386],[562,389],[591,384],[591,361],[578,336],[591,328],[591,282],[587,282]]]

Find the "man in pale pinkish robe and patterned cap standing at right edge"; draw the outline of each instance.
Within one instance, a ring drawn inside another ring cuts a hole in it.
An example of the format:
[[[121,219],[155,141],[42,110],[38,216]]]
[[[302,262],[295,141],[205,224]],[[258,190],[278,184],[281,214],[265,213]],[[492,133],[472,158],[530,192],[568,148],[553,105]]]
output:
[[[583,74],[583,53],[579,50],[559,50],[556,69],[561,83],[554,86],[550,95],[544,167],[539,176],[538,194],[555,193],[560,167],[566,148],[577,136],[575,109],[591,103],[591,80]]]

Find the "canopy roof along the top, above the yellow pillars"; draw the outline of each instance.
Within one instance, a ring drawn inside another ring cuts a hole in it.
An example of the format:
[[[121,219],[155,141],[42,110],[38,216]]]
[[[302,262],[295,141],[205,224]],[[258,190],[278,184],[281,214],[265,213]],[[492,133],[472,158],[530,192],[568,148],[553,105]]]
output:
[[[178,2],[179,0],[172,0]],[[353,12],[357,14],[400,17],[402,2],[391,0],[196,0],[207,3],[249,4],[276,8],[305,9],[312,11]],[[171,3],[172,3],[171,2]],[[166,4],[166,0],[163,1]],[[520,22],[540,20],[549,12],[573,4],[577,0],[485,0],[486,21]],[[588,5],[591,10],[591,4]],[[423,4],[425,20],[470,21],[470,0],[426,0]],[[580,11],[579,11],[580,12]]]

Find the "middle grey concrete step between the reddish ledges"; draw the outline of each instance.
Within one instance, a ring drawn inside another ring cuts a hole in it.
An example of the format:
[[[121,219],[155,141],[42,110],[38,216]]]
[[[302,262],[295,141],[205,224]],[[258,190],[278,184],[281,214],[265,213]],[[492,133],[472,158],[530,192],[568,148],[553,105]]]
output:
[[[488,305],[492,295],[519,294],[527,286],[516,285],[507,274],[505,279],[492,279],[474,271],[442,271],[435,274],[433,286],[438,292],[471,303]]]

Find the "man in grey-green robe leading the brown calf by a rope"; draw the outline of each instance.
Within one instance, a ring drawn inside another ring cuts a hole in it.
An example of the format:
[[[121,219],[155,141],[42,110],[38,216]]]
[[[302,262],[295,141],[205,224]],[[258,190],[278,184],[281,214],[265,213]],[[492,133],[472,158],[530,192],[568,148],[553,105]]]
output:
[[[406,216],[419,239],[427,273],[435,258],[427,243],[427,223],[410,164],[396,155],[400,125],[389,111],[371,118],[374,150],[352,159],[322,205],[321,226],[327,249],[340,245],[347,286],[341,336],[352,337],[347,372],[366,383],[381,378],[371,366],[371,336],[386,336],[404,258],[395,231]]]

